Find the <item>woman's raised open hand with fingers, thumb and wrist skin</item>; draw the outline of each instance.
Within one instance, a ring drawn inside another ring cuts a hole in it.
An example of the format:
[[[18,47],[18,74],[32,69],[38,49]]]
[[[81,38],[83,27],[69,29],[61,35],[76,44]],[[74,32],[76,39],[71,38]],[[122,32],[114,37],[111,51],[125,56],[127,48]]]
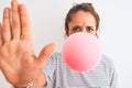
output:
[[[45,84],[42,69],[54,48],[51,43],[36,56],[25,6],[12,0],[11,8],[4,8],[0,23],[0,69],[10,84],[24,88],[33,80],[32,88],[42,88]]]

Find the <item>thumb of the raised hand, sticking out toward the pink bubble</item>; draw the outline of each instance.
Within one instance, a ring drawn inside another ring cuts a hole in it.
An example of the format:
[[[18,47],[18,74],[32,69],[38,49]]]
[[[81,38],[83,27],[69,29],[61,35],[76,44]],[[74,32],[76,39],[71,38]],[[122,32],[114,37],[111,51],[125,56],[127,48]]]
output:
[[[51,55],[51,53],[55,50],[55,47],[56,47],[55,43],[51,43],[51,44],[46,45],[42,50],[42,52],[38,55],[38,59],[37,59],[38,64],[41,66],[45,65],[46,59],[48,58],[48,56]]]

